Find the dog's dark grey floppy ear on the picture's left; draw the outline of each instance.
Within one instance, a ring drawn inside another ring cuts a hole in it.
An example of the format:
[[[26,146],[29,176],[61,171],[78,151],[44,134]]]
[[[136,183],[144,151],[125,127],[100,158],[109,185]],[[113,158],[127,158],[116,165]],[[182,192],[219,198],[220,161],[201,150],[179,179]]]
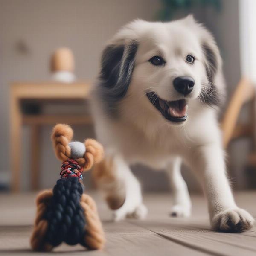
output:
[[[128,44],[108,45],[103,51],[99,90],[108,111],[112,113],[128,90],[137,48],[137,41],[130,41]]]

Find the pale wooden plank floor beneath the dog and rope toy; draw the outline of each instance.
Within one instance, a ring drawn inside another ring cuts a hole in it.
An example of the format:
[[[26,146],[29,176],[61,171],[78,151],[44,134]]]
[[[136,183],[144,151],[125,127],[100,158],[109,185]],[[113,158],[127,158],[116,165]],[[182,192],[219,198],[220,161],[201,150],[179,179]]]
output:
[[[256,228],[241,234],[216,233],[210,230],[206,202],[192,196],[192,217],[170,218],[169,194],[147,194],[149,209],[146,220],[113,223],[111,212],[96,193],[99,212],[107,236],[102,251],[84,251],[83,247],[61,245],[56,254],[86,256],[203,256],[256,255]],[[239,206],[256,216],[256,192],[236,194]],[[0,254],[38,255],[29,249],[29,236],[35,215],[35,194],[0,194]]]

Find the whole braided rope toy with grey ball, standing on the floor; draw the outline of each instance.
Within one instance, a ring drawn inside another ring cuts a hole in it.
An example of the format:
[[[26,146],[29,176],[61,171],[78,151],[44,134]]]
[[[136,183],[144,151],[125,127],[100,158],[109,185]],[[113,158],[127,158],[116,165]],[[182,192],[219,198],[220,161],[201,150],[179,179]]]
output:
[[[37,213],[30,239],[32,250],[50,251],[62,242],[101,249],[105,235],[96,204],[83,193],[82,172],[103,158],[103,148],[93,139],[70,142],[73,130],[55,125],[52,142],[56,157],[63,161],[60,179],[53,190],[41,192],[36,199]]]

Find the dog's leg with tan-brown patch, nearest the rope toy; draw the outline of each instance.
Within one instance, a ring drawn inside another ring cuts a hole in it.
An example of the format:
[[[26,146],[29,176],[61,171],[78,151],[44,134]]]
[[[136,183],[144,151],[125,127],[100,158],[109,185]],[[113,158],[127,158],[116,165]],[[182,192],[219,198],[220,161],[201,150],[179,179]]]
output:
[[[93,180],[105,194],[113,218],[145,218],[147,208],[142,203],[140,183],[121,156],[106,156],[95,166]]]

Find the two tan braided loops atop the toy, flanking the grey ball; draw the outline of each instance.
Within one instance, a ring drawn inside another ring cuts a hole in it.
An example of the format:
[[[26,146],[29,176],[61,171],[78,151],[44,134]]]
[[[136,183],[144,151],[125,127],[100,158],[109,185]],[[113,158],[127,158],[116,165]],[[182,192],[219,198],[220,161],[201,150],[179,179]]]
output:
[[[71,156],[71,148],[68,145],[73,138],[73,130],[69,125],[58,124],[52,130],[52,143],[56,157],[61,161],[66,161]],[[100,143],[93,139],[84,140],[86,152],[84,157],[74,159],[84,171],[92,168],[93,164],[99,163],[103,159],[104,151]]]

